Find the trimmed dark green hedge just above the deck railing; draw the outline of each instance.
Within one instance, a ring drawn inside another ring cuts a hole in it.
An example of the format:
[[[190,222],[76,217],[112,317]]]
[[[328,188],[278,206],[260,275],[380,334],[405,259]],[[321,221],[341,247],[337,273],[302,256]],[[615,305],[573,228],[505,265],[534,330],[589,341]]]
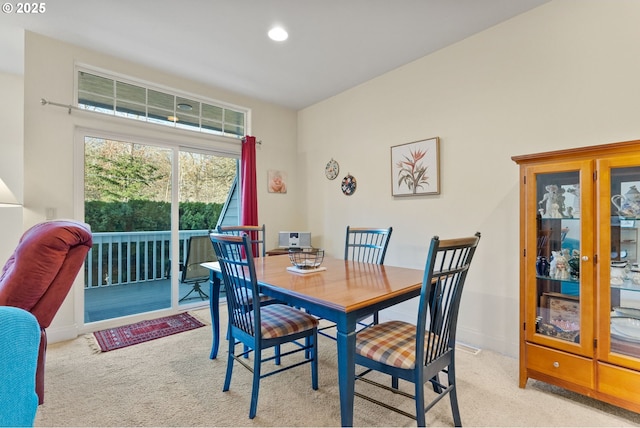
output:
[[[180,203],[180,230],[213,229],[223,204]],[[171,230],[171,204],[147,200],[85,202],[85,221],[92,232]]]

